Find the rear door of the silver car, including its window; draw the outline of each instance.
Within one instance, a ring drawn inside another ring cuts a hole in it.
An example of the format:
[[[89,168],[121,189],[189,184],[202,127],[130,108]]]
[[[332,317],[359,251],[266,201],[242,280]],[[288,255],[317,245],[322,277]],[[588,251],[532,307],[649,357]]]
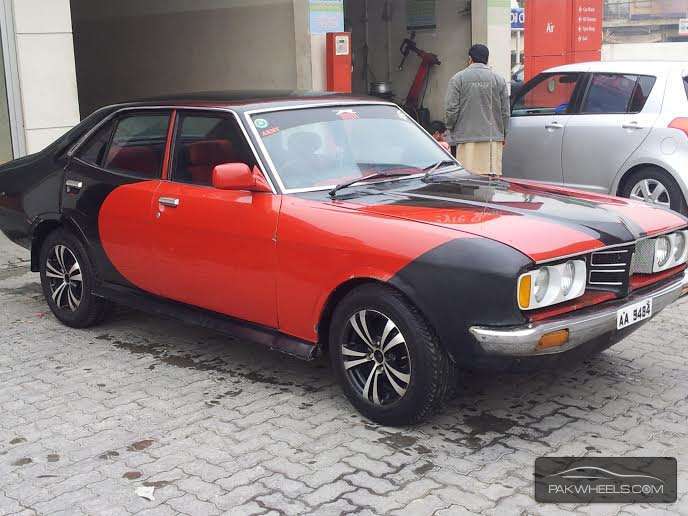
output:
[[[656,77],[594,73],[564,132],[564,182],[607,193],[624,162],[643,143],[662,108]]]

